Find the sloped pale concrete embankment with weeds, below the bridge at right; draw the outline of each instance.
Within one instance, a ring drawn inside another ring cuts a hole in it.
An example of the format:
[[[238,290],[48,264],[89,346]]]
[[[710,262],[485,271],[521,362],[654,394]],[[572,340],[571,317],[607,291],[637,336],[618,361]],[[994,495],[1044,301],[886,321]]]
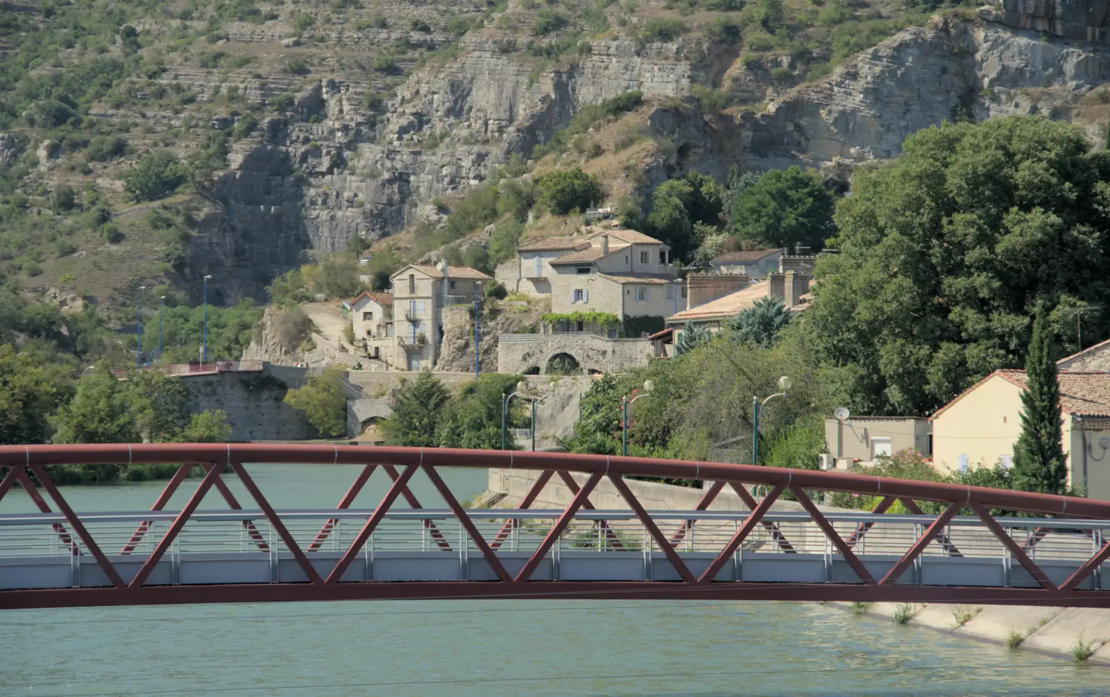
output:
[[[830,603],[850,610],[848,603]],[[1080,645],[1092,650],[1088,663],[1110,664],[1110,609],[1027,605],[898,605],[868,603],[868,615],[905,618],[905,624],[1017,650],[1073,657]]]

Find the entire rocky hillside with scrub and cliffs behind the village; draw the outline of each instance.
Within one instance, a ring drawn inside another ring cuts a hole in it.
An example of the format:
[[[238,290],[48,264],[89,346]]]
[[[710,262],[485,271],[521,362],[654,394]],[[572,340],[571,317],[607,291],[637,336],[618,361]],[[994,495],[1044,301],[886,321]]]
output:
[[[534,154],[617,202],[687,170],[847,176],[946,119],[1045,113],[1101,139],[1104,30],[1077,39],[1043,4],[4,4],[0,273],[109,303],[140,284],[199,302],[211,274],[228,303]],[[543,151],[634,90],[635,113]]]

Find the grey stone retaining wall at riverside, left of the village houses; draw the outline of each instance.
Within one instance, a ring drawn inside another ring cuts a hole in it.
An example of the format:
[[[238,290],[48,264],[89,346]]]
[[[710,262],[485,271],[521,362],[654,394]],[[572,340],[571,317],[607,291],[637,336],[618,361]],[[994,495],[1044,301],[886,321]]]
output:
[[[182,375],[191,413],[223,410],[232,441],[303,441],[316,437],[304,412],[285,393],[304,384],[305,368],[263,364],[260,371]]]

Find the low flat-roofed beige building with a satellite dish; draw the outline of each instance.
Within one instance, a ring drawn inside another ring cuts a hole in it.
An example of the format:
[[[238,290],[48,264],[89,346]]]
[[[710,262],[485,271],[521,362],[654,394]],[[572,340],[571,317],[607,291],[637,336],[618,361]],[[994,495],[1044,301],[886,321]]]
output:
[[[826,418],[825,447],[840,468],[904,451],[928,456],[932,453],[932,424],[919,416]]]

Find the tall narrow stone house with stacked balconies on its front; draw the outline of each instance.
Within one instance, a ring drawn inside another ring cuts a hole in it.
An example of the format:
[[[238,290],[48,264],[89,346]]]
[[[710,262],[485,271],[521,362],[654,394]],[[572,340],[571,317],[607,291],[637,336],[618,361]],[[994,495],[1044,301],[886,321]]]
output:
[[[470,266],[408,264],[393,282],[394,342],[390,363],[408,371],[430,368],[440,356],[443,311],[471,304],[491,276]]]

